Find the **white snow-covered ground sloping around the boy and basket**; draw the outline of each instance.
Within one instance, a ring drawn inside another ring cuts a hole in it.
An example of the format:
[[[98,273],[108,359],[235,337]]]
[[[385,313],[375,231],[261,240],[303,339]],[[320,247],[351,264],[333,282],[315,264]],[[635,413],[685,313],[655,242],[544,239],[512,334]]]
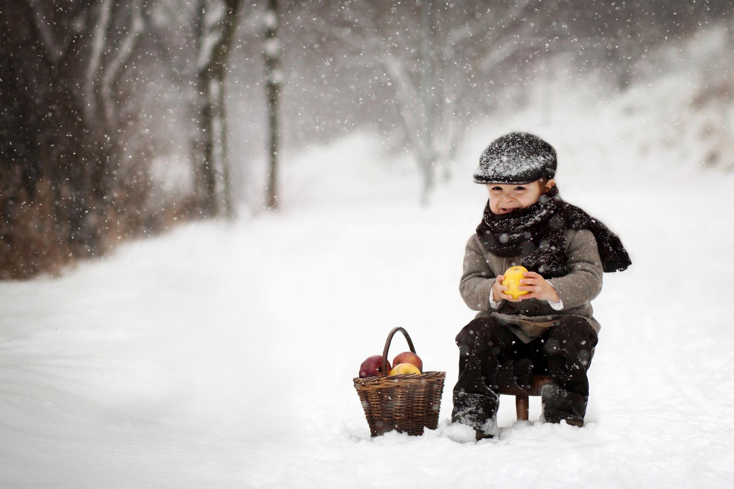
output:
[[[558,87],[551,126],[478,125],[429,207],[407,158],[355,134],[288,158],[277,213],[0,283],[0,487],[732,487],[734,178],[670,160],[663,122],[625,111],[655,89],[597,95]],[[458,282],[486,201],[470,174],[508,130],[554,144],[562,196],[633,265],[593,303],[586,426],[539,423],[538,398],[515,422],[502,397],[501,436],[457,444]],[[446,371],[440,424],[371,439],[352,378],[394,326]]]

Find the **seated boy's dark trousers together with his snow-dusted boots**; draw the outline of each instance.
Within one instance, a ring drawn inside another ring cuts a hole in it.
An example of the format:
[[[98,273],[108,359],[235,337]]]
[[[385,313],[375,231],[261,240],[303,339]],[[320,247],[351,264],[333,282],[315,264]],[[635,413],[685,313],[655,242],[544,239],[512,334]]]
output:
[[[484,426],[495,419],[499,392],[528,388],[533,375],[550,375],[542,389],[546,422],[583,424],[589,399],[586,371],[597,334],[579,316],[563,316],[541,337],[523,343],[491,317],[478,317],[457,334],[459,380],[454,386],[453,422]]]

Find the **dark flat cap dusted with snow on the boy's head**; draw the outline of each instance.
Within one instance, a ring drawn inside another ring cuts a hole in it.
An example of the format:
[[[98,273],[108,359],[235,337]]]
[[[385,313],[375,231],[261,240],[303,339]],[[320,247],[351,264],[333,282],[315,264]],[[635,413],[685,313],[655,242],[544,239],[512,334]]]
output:
[[[518,131],[490,143],[479,157],[475,183],[524,185],[541,177],[555,177],[556,150],[538,136]]]

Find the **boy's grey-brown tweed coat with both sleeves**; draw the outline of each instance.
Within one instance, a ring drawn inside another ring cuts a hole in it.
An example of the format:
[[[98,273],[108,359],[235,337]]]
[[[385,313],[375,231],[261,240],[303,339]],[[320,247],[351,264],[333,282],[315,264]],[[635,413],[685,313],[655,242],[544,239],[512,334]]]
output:
[[[550,326],[540,323],[564,315],[584,317],[598,333],[601,326],[594,319],[591,301],[601,292],[603,268],[594,233],[586,228],[566,229],[565,238],[566,264],[570,273],[548,279],[561,298],[563,309],[553,309],[548,301],[535,298],[520,302],[501,300],[493,309],[490,294],[495,277],[504,274],[512,266],[520,265],[526,254],[510,258],[497,257],[482,248],[476,233],[471,235],[466,243],[459,293],[470,309],[479,311],[475,318],[494,317],[525,343],[539,337]]]

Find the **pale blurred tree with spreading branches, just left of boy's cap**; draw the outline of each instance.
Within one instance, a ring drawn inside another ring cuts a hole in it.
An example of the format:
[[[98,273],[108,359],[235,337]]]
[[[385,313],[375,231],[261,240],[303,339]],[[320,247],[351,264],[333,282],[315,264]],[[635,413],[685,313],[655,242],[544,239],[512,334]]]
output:
[[[355,65],[371,67],[373,76],[393,86],[407,146],[421,172],[424,204],[438,162],[451,161],[459,147],[469,110],[464,100],[476,77],[538,51],[533,41],[551,20],[535,5],[423,0],[413,7],[352,0],[338,8],[324,5],[313,16],[316,29],[341,40]]]

